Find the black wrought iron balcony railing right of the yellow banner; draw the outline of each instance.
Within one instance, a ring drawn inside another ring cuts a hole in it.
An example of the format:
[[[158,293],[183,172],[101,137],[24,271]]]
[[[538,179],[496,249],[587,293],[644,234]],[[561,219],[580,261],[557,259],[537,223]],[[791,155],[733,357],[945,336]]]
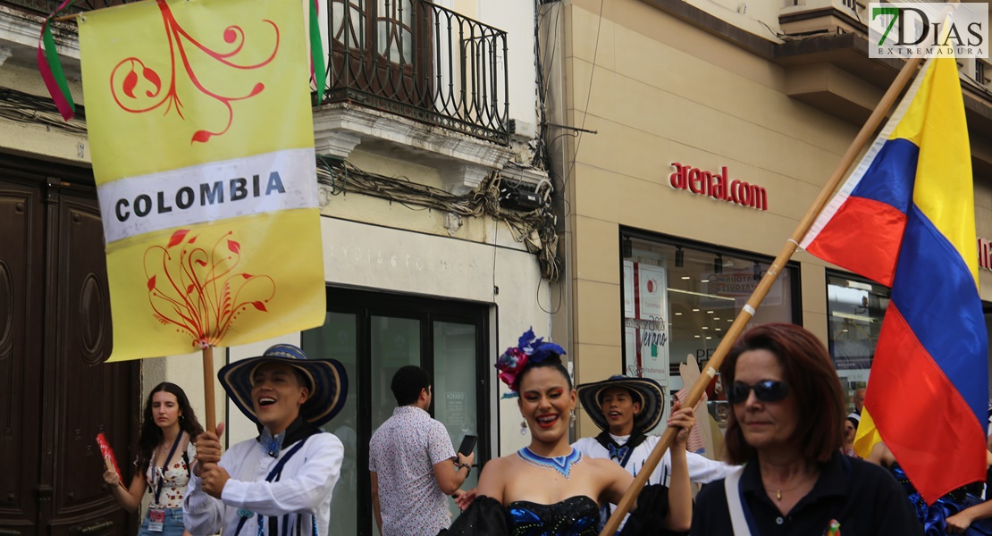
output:
[[[332,0],[324,102],[509,139],[506,33],[422,0]]]

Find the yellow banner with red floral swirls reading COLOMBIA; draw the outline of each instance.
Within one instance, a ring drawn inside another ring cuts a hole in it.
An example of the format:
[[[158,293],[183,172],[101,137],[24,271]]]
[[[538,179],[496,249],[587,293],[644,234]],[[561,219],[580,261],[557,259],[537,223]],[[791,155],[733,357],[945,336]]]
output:
[[[299,0],[139,2],[79,19],[111,361],[319,325]]]

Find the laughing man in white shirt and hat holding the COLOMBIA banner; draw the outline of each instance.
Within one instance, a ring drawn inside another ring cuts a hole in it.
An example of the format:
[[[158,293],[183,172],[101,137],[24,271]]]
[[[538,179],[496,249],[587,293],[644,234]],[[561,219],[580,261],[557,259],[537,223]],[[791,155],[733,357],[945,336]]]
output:
[[[280,344],[217,374],[260,435],[220,455],[217,432],[196,439],[196,463],[183,503],[186,530],[199,536],[326,534],[330,495],[344,447],[320,430],[344,404],[347,378],[334,360],[309,361]]]

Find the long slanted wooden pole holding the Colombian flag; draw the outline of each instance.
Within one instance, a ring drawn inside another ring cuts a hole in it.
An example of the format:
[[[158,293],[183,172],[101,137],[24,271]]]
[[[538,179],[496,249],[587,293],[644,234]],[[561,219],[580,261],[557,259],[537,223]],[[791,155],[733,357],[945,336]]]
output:
[[[778,278],[779,273],[785,268],[786,264],[792,258],[793,253],[799,247],[799,243],[806,236],[806,232],[809,231],[809,227],[812,226],[812,222],[819,215],[826,203],[829,202],[830,198],[833,196],[834,190],[840,185],[840,181],[844,178],[847,173],[847,169],[854,163],[854,160],[861,154],[861,151],[871,140],[875,131],[878,129],[879,125],[882,124],[882,120],[885,119],[886,114],[892,105],[899,98],[899,94],[902,93],[903,88],[909,83],[910,79],[913,77],[914,73],[917,71],[917,67],[920,66],[922,58],[914,57],[909,59],[903,66],[903,69],[899,71],[896,79],[893,80],[892,85],[889,86],[888,91],[879,101],[878,106],[872,112],[871,116],[868,117],[868,121],[865,122],[864,126],[861,127],[861,131],[858,132],[857,137],[851,142],[850,147],[847,148],[847,152],[844,153],[843,157],[837,163],[836,168],[833,170],[833,174],[830,176],[829,180],[823,185],[823,189],[820,190],[819,195],[813,201],[812,205],[806,211],[806,216],[800,220],[799,225],[796,230],[793,231],[792,237],[783,246],[782,251],[779,252],[778,257],[765,272],[765,275],[761,278],[758,286],[754,289],[751,297],[748,298],[747,305],[737,314],[737,318],[734,319],[734,323],[731,324],[730,329],[723,336],[720,344],[716,347],[716,351],[713,353],[713,357],[710,358],[709,363],[706,364],[706,370],[703,371],[702,375],[699,375],[699,379],[692,385],[689,390],[688,398],[685,400],[685,406],[694,407],[698,403],[699,399],[702,397],[702,393],[705,392],[706,386],[716,375],[716,371],[720,368],[720,364],[723,363],[723,358],[730,351],[731,346],[737,341],[741,333],[744,331],[744,327],[747,323],[751,321],[751,317],[754,315],[754,310],[758,308],[761,301],[765,299],[765,295],[772,288],[772,283]],[[655,449],[651,452],[651,456],[645,461],[644,466],[640,469],[637,477],[634,478],[634,482],[624,493],[623,498],[620,503],[617,504],[617,509],[610,515],[609,521],[607,521],[606,526],[603,527],[602,532],[599,536],[612,536],[616,534],[617,528],[620,526],[620,522],[626,516],[627,512],[630,511],[631,506],[637,499],[638,493],[644,487],[644,484],[648,482],[648,478],[651,474],[655,472],[655,468],[658,467],[659,462],[661,462],[662,457],[665,455],[665,451],[669,449],[672,445],[672,441],[676,437],[676,429],[668,428],[662,434],[661,440]]]

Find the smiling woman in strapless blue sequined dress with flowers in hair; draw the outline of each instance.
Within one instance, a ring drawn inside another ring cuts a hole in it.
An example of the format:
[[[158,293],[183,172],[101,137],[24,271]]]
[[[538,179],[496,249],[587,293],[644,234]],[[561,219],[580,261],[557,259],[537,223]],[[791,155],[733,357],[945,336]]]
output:
[[[507,350],[496,368],[500,379],[518,392],[524,428],[531,444],[517,453],[486,464],[476,496],[451,526],[461,535],[596,535],[599,505],[616,503],[633,477],[610,460],[583,458],[568,444],[576,394],[561,365],[564,351],[553,343],[534,340],[528,331],[520,345]],[[691,520],[691,496],[684,442],[694,424],[692,412],[676,410],[671,426],[682,428],[672,452],[672,488],[648,486],[638,497],[623,534],[684,532]],[[650,530],[649,530],[650,527]]]

